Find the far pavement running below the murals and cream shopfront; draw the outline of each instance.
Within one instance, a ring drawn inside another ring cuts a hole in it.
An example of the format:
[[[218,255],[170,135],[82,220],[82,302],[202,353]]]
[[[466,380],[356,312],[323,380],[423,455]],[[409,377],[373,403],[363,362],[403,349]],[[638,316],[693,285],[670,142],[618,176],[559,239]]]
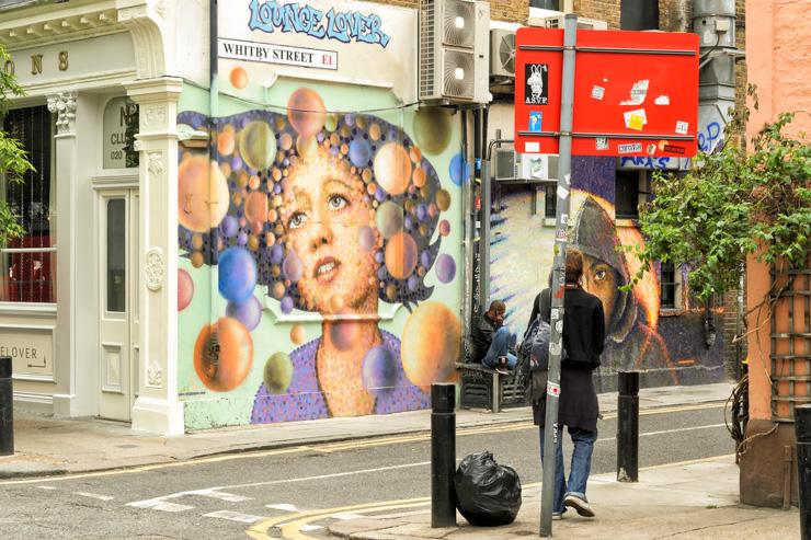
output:
[[[731,391],[731,383],[647,389],[640,391],[640,409],[724,401]],[[599,405],[603,414],[616,411],[617,393],[601,394]],[[532,422],[532,410],[507,409],[499,414],[460,410],[456,415],[458,427],[512,422]],[[429,432],[430,428],[431,411],[426,410],[160,437],[134,432],[124,423],[96,418],[58,420],[15,411],[16,453],[0,457],[0,479],[138,467],[216,453]]]

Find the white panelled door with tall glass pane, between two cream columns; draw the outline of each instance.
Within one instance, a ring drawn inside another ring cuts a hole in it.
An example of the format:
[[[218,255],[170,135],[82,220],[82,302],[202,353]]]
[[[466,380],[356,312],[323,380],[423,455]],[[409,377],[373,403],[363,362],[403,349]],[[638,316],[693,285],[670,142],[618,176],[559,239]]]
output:
[[[138,389],[138,192],[99,193],[99,415],[130,420]]]

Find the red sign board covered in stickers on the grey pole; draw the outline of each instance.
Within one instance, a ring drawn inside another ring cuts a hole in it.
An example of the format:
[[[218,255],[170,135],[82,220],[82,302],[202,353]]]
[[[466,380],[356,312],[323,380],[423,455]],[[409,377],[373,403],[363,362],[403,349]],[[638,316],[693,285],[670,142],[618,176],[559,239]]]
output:
[[[515,150],[558,153],[563,31],[519,28]],[[579,30],[572,153],[689,158],[697,148],[698,35]]]

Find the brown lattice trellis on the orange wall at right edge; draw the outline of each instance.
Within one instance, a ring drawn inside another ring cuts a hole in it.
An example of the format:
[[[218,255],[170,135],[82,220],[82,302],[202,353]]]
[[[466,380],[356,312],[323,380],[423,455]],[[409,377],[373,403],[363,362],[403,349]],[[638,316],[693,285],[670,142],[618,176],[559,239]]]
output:
[[[772,285],[785,287],[770,321],[772,414],[793,422],[795,405],[811,403],[811,256],[804,269],[773,268]]]

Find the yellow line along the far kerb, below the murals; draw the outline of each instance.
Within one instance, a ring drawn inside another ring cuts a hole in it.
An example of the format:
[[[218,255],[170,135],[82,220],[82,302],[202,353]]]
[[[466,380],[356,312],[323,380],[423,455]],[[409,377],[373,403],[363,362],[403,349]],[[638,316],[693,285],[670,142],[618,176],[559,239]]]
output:
[[[639,414],[640,416],[651,416],[651,415],[658,415],[658,414],[698,411],[698,410],[705,410],[705,409],[721,409],[724,405],[726,405],[724,402],[704,403],[704,404],[698,404],[698,405],[679,405],[679,406],[672,406],[672,407],[643,410],[643,411],[640,411]],[[612,414],[605,415],[603,420],[612,420],[616,417],[617,417],[616,413],[612,413]],[[461,427],[457,429],[456,435],[457,437],[466,437],[466,436],[471,436],[471,435],[517,432],[517,430],[533,429],[533,428],[535,428],[535,426],[533,425],[532,422],[515,422],[515,423],[504,423],[504,424],[496,424],[496,425]],[[430,439],[431,439],[431,433],[425,432],[425,433],[418,433],[418,434],[364,438],[364,439],[349,440],[349,441],[343,441],[343,443],[325,443],[325,444],[319,444],[318,446],[310,444],[310,445],[294,446],[294,447],[288,447],[288,448],[276,448],[276,449],[271,449],[271,450],[250,451],[250,452],[244,452],[244,453],[228,453],[228,455],[221,455],[221,456],[209,456],[207,458],[191,459],[191,460],[185,460],[185,461],[174,461],[170,463],[155,463],[155,464],[140,466],[140,467],[134,467],[134,468],[128,468],[128,469],[115,469],[111,471],[83,472],[83,473],[77,473],[77,474],[64,474],[64,475],[58,475],[58,476],[37,476],[37,478],[22,479],[22,480],[7,480],[7,481],[0,482],[0,485],[24,485],[24,484],[36,484],[36,483],[46,483],[46,482],[61,482],[66,480],[87,479],[87,478],[136,474],[140,472],[157,471],[161,469],[172,469],[172,468],[178,468],[178,467],[190,467],[190,466],[205,464],[205,463],[219,463],[224,461],[232,461],[232,460],[239,460],[239,459],[254,459],[254,458],[265,458],[265,457],[271,457],[271,456],[286,456],[286,455],[292,455],[292,453],[306,453],[306,452],[331,453],[331,452],[345,451],[345,450],[355,450],[359,448],[373,448],[373,447],[379,447],[379,446],[399,445],[399,444],[404,444],[404,443],[421,443],[421,441],[425,441]]]

